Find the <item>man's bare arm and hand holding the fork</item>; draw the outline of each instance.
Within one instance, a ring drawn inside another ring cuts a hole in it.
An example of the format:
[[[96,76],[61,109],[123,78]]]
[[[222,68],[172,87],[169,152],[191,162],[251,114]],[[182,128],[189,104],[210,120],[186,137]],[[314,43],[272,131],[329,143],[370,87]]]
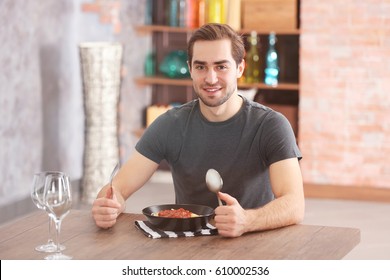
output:
[[[102,228],[112,227],[118,215],[125,210],[129,196],[140,189],[157,168],[157,163],[135,152],[114,177],[114,193],[106,185],[93,202],[92,215],[96,225]]]

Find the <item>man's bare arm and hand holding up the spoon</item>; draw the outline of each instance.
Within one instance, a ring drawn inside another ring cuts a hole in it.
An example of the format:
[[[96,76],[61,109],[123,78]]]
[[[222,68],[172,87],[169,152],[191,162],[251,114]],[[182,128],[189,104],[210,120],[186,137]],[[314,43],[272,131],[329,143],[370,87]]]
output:
[[[297,158],[281,160],[270,166],[270,180],[275,199],[258,209],[244,210],[228,194],[219,193],[225,206],[215,210],[216,227],[224,236],[240,236],[245,232],[279,228],[303,220],[305,199]]]

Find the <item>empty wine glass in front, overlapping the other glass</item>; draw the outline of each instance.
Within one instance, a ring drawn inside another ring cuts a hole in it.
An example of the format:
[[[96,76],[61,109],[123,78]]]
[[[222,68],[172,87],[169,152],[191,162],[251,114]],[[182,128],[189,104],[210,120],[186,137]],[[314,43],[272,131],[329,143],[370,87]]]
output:
[[[57,250],[54,254],[45,257],[47,260],[69,260],[72,257],[61,253],[60,232],[61,223],[70,212],[72,197],[70,191],[69,177],[64,174],[48,174],[45,180],[43,192],[43,203],[49,210],[49,215],[56,225]]]

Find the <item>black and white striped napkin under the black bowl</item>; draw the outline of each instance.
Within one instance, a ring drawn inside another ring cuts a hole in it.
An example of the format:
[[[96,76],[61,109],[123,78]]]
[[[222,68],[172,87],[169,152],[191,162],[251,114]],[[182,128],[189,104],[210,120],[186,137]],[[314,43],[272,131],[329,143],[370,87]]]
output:
[[[204,235],[216,235],[218,230],[211,224],[207,224],[199,231],[164,231],[153,227],[148,221],[135,221],[135,227],[138,228],[144,235],[150,238],[177,238],[177,237],[193,237]]]

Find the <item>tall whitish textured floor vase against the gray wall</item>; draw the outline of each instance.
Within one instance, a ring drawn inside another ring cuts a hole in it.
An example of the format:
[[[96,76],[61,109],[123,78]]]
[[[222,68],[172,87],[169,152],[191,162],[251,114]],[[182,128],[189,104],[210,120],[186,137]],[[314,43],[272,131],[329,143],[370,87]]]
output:
[[[81,200],[91,204],[119,161],[118,103],[123,47],[120,43],[79,45],[85,136]]]

